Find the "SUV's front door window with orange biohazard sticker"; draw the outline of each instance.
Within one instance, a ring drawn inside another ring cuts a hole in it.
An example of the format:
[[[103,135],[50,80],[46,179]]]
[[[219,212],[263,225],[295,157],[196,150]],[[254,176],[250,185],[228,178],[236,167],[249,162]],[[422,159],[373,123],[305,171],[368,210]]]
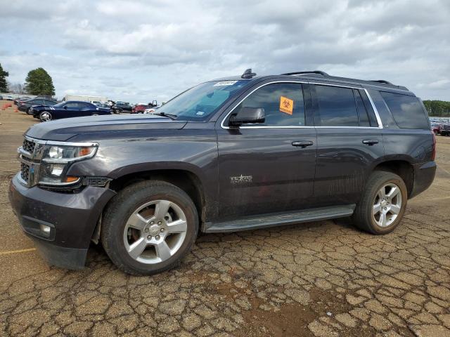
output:
[[[266,121],[245,126],[304,126],[302,84],[274,83],[259,88],[240,103],[242,107],[262,107]]]

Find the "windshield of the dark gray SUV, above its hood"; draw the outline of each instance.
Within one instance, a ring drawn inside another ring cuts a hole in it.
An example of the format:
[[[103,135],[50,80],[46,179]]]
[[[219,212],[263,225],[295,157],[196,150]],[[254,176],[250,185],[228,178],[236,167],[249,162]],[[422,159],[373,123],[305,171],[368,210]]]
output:
[[[184,121],[202,121],[248,83],[249,81],[205,82],[169,100],[157,112],[164,112]]]

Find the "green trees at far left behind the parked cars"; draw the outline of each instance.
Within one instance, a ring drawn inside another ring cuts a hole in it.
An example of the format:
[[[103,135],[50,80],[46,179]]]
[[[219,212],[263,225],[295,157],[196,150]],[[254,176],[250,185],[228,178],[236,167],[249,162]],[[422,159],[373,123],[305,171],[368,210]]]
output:
[[[0,93],[27,93],[30,95],[55,95],[53,80],[44,68],[30,70],[25,79],[25,84],[11,84],[6,81],[9,73],[6,72],[0,64]]]

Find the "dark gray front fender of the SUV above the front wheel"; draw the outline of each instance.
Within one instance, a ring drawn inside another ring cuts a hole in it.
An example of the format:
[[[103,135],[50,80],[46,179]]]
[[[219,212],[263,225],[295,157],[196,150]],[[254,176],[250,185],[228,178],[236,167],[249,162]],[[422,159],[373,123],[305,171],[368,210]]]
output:
[[[205,199],[217,200],[217,136],[214,129],[198,133],[155,130],[146,137],[91,140],[99,143],[96,156],[72,164],[68,175],[117,179],[148,171],[188,171],[200,180]]]

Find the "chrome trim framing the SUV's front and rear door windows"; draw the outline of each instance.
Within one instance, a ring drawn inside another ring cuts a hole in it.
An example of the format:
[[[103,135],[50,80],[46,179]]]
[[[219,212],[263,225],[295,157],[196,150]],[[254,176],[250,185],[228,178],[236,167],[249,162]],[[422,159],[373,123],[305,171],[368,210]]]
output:
[[[229,111],[228,114],[225,115],[224,119],[222,119],[221,123],[220,123],[220,127],[224,128],[226,130],[232,129],[230,126],[224,126],[224,121],[229,117],[229,115],[236,109],[236,107],[238,107],[238,105],[240,105],[240,103],[243,103],[243,101],[248,98],[248,96],[252,95],[252,93],[254,93],[255,91],[257,91],[259,88],[262,88],[263,86],[267,86],[269,84],[274,84],[274,83],[299,83],[299,84],[316,84],[319,86],[339,86],[341,88],[349,88],[349,89],[358,89],[358,90],[364,90],[364,92],[366,93],[369,102],[372,105],[372,109],[373,112],[375,113],[375,118],[377,120],[377,124],[378,126],[239,126],[238,128],[256,128],[256,129],[260,129],[260,128],[361,128],[361,129],[381,129],[383,128],[383,123],[381,122],[381,118],[380,118],[380,114],[378,113],[377,107],[375,107],[375,104],[373,103],[373,100],[371,98],[371,95],[368,93],[366,88],[362,88],[361,86],[345,86],[345,85],[340,85],[340,84],[328,84],[328,83],[319,83],[319,82],[310,82],[310,81],[271,81],[268,83],[264,83],[261,86],[258,86],[257,88],[253,89],[252,91],[250,91],[250,93],[248,93],[247,95],[245,95],[245,97],[239,101],[238,104],[236,104],[233,109],[231,109]]]

